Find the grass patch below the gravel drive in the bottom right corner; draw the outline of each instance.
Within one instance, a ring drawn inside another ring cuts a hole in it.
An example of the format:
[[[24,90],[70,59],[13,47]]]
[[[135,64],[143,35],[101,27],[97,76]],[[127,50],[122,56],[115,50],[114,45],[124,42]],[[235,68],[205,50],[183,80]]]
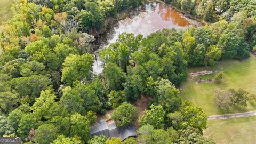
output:
[[[216,143],[255,143],[256,116],[208,121],[205,137]]]

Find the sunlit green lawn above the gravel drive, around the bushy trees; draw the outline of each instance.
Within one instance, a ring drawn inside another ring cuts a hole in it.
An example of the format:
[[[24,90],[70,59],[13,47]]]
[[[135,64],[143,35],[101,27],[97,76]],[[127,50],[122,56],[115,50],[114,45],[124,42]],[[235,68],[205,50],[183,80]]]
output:
[[[189,72],[202,70],[212,70],[210,75],[197,76],[187,79],[187,82],[181,86],[180,97],[182,100],[193,102],[194,105],[201,107],[207,115],[219,115],[228,113],[239,113],[244,111],[256,110],[256,103],[248,102],[248,106],[236,106],[229,111],[219,109],[213,103],[213,90],[228,90],[230,88],[242,88],[250,93],[256,94],[256,58],[251,55],[249,59],[242,62],[237,60],[224,60],[218,62],[213,67],[191,68]],[[213,78],[219,71],[223,71],[223,79],[220,84],[200,83],[196,84],[199,78]]]

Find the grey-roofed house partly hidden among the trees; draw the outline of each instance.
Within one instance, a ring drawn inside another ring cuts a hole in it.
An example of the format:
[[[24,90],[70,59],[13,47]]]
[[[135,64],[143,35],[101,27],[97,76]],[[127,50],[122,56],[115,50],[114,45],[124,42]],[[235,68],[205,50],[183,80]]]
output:
[[[106,121],[105,119],[101,119],[98,123],[95,123],[94,126],[90,127],[90,134],[92,136],[105,135],[106,138],[120,138],[121,141],[128,137],[137,137],[133,125],[118,128],[114,120]]]

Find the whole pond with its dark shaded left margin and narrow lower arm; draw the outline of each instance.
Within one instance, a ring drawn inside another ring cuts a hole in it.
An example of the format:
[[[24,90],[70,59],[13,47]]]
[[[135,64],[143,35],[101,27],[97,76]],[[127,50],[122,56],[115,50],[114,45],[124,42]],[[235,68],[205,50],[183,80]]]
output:
[[[99,66],[99,50],[110,43],[115,43],[119,34],[133,33],[135,36],[142,34],[147,37],[151,33],[163,28],[176,29],[185,27],[200,27],[204,23],[190,19],[187,15],[177,11],[173,6],[159,2],[145,2],[137,7],[129,7],[128,9],[106,20],[105,29],[101,33],[94,35],[96,40],[93,50],[95,57],[95,71],[101,71]],[[108,25],[107,25],[108,24]],[[105,30],[105,32],[104,32]]]

